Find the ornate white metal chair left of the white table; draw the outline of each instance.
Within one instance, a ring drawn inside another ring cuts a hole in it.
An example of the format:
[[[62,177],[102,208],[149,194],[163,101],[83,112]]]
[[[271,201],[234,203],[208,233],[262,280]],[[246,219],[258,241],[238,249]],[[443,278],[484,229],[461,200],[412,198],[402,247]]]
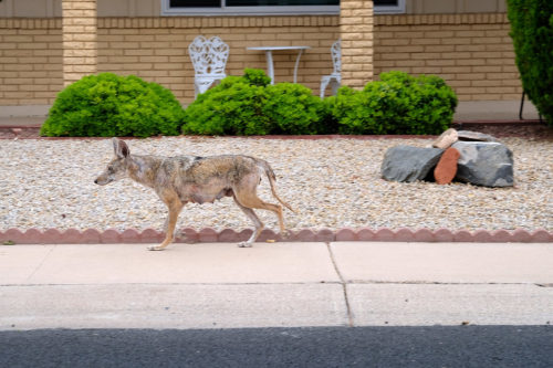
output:
[[[229,59],[229,46],[220,38],[206,39],[198,35],[188,45],[188,53],[194,65],[194,94],[197,97],[215,82],[227,76],[225,66]]]

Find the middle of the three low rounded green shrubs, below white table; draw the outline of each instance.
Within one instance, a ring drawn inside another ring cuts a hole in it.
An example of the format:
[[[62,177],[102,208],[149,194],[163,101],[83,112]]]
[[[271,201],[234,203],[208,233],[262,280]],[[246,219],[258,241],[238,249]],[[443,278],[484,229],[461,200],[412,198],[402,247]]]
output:
[[[321,98],[300,84],[270,85],[260,70],[228,76],[200,94],[186,109],[185,134],[268,135],[316,134]]]

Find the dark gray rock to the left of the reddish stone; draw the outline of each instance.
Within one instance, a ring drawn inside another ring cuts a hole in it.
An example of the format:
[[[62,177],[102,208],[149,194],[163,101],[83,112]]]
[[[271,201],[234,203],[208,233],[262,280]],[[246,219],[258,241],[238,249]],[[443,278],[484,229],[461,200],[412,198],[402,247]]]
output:
[[[422,180],[440,159],[444,149],[396,146],[384,155],[380,167],[382,177],[386,180],[407,181]]]

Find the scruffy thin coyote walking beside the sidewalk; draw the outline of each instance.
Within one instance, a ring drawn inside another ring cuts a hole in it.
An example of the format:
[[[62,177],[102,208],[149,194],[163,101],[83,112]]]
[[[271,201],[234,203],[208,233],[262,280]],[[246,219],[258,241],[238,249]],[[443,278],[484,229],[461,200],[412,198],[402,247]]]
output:
[[[251,246],[263,230],[263,223],[253,209],[265,209],[276,213],[281,234],[285,235],[282,206],[262,201],[255,193],[264,172],[271,192],[279,202],[295,212],[279,198],[274,189],[275,176],[269,162],[242,155],[198,156],[139,156],[131,155],[125,141],[113,138],[115,158],[107,165],[95,183],[105,186],[112,181],[131,178],[153,188],[167,204],[169,215],[165,222],[166,238],[150,251],[163,251],[174,240],[177,218],[187,202],[213,202],[222,197],[232,197],[238,207],[253,221],[253,234],[239,246]]]

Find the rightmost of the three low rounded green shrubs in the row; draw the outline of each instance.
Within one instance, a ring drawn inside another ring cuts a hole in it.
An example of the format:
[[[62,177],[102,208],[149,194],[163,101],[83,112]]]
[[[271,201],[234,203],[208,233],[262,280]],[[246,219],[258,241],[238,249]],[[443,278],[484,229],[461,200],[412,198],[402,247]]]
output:
[[[440,134],[457,96],[440,77],[388,72],[363,91],[341,87],[328,105],[341,134]]]

